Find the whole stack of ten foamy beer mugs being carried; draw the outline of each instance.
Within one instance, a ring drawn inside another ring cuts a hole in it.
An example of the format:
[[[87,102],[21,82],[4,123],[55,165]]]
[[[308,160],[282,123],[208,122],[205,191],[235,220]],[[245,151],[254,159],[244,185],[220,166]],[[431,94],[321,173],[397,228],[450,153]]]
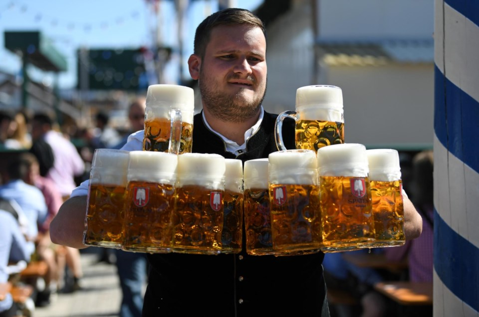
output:
[[[150,86],[143,151],[95,151],[84,244],[275,256],[404,244],[398,153],[344,143],[339,87],[299,88],[296,111],[276,121],[280,151],[244,170],[191,153],[193,108],[191,88]],[[288,116],[296,150],[282,144]]]

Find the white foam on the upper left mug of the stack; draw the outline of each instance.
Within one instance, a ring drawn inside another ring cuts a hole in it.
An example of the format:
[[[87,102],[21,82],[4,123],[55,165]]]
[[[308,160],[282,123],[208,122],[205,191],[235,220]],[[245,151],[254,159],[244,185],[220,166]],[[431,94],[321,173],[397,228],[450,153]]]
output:
[[[146,93],[146,118],[170,118],[172,109],[181,110],[182,122],[193,124],[195,94],[180,85],[150,85]]]

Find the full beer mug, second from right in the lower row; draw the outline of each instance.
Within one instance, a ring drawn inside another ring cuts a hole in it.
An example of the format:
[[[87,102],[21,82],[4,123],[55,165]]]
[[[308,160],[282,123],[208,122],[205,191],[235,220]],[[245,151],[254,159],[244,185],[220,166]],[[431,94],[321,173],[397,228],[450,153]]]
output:
[[[323,252],[364,248],[374,240],[366,148],[338,144],[318,150]]]

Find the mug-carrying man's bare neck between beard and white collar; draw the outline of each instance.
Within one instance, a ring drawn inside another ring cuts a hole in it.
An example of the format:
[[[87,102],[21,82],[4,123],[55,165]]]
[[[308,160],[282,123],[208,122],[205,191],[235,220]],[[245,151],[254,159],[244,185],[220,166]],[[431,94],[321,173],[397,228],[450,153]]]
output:
[[[208,109],[203,108],[205,119],[210,127],[224,136],[225,138],[236,142],[238,145],[244,143],[244,133],[250,129],[258,121],[259,111],[256,115],[248,118],[242,122],[225,122],[221,119],[214,117]]]

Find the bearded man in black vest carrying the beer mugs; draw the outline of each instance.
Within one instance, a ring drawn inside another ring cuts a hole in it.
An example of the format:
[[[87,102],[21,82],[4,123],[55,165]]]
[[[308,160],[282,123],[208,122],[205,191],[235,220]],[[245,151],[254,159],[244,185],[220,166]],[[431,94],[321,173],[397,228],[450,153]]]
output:
[[[188,64],[199,80],[203,111],[194,119],[193,152],[245,161],[277,151],[276,115],[261,107],[266,90],[262,22],[244,9],[216,12],[198,26],[194,46]],[[290,136],[286,144],[294,148],[293,126],[284,128],[289,130],[283,136]],[[133,134],[123,149],[140,150],[142,137],[143,132]],[[82,194],[60,209],[58,222],[52,222],[53,241],[84,247],[86,190]],[[421,220],[412,205],[406,207],[408,237],[414,238]],[[66,228],[68,221],[78,223]],[[153,254],[148,259],[143,316],[329,316],[322,253],[249,256],[243,248],[240,254]]]

